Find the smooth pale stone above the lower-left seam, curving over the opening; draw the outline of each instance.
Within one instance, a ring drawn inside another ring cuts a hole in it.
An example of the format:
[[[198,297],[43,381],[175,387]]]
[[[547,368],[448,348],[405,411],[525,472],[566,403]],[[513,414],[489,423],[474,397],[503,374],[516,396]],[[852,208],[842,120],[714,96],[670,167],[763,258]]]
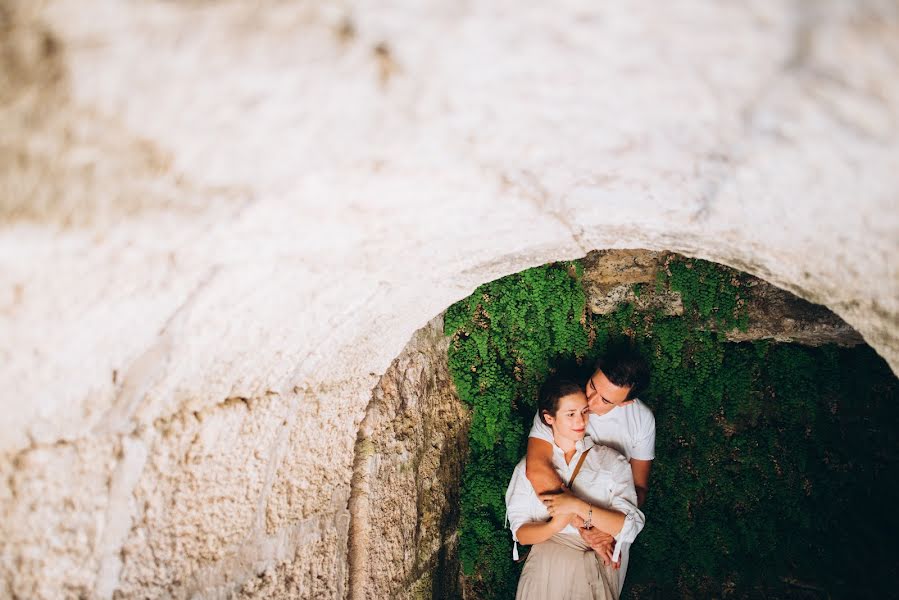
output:
[[[16,10],[6,450],[367,389],[477,284],[596,248],[760,275],[899,364],[894,4]]]

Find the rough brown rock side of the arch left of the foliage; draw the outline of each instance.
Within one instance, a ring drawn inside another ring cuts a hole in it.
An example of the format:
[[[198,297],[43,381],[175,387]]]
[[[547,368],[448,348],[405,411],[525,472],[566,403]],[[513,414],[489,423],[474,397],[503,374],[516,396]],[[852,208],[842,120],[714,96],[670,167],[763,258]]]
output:
[[[356,441],[350,501],[352,600],[459,597],[459,483],[468,410],[431,321],[374,389]]]

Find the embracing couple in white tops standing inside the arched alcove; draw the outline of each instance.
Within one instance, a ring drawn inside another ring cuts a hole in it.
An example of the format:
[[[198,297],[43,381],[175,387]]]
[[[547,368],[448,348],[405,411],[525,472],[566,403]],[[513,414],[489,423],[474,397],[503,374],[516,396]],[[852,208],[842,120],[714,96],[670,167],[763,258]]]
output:
[[[533,546],[518,600],[617,600],[655,458],[655,418],[636,397],[648,379],[641,357],[617,350],[586,386],[553,376],[541,388],[506,490],[514,558]]]

